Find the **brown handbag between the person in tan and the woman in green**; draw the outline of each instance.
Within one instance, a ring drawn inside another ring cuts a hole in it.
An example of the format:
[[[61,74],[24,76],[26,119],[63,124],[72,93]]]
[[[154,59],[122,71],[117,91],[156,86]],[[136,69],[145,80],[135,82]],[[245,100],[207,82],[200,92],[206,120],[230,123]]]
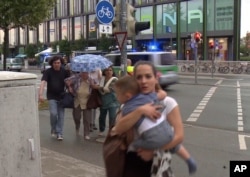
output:
[[[92,89],[89,95],[86,107],[87,109],[96,109],[102,106],[101,96],[98,90]]]

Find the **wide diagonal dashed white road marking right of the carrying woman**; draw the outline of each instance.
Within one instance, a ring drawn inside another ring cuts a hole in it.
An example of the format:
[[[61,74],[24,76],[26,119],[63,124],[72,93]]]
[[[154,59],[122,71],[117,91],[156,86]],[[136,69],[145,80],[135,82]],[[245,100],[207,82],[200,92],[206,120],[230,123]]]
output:
[[[207,94],[202,98],[200,103],[194,109],[194,111],[190,114],[189,118],[187,119],[188,122],[196,122],[200,117],[202,111],[206,108],[208,101],[213,96],[217,87],[211,87]]]

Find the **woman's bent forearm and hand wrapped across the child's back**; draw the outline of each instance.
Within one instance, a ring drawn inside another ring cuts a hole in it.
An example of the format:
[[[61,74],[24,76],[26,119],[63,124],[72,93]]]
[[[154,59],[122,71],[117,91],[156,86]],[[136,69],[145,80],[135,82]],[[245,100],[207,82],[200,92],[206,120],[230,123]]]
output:
[[[158,111],[160,107],[159,105],[154,106],[152,103],[140,106],[133,112],[117,119],[113,130],[116,134],[122,134],[132,128],[143,115],[152,120],[157,119],[161,116],[161,113]]]

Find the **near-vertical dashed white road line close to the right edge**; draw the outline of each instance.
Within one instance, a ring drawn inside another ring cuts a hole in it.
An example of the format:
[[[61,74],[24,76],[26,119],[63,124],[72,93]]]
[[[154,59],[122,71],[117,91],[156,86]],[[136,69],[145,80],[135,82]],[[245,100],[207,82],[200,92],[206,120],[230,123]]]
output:
[[[241,91],[240,91],[240,83],[237,81],[237,113],[238,113],[238,131],[244,131],[244,122],[243,122],[243,111],[242,111],[242,103],[241,103]]]

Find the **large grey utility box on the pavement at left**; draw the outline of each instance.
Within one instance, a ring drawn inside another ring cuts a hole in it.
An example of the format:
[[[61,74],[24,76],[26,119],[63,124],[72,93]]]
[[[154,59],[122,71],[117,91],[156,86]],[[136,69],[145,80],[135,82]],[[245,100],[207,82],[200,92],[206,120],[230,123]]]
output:
[[[0,71],[0,176],[41,177],[35,74]]]

